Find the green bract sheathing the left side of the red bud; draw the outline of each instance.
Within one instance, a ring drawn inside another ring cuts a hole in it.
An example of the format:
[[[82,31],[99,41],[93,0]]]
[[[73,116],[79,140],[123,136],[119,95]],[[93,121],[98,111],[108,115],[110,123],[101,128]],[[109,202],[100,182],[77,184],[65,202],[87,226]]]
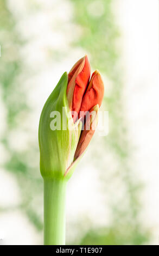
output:
[[[44,179],[69,178],[68,168],[79,141],[81,122],[73,123],[66,95],[67,82],[65,72],[44,104],[40,117],[40,171]],[[52,124],[56,129],[52,129]]]

